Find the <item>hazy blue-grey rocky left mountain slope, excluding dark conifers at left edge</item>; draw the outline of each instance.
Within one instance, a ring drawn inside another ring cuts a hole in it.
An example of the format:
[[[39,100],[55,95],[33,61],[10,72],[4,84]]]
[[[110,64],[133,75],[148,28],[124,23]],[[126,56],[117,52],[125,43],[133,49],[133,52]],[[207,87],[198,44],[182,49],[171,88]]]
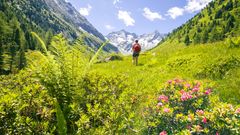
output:
[[[33,31],[44,33],[51,30],[53,34],[63,33],[72,41],[82,33],[87,33],[89,36],[86,40],[93,41],[88,45],[94,50],[105,41],[105,37],[65,0],[12,0],[6,3],[20,23],[30,25]],[[104,50],[111,52],[117,51],[117,48],[109,44]]]

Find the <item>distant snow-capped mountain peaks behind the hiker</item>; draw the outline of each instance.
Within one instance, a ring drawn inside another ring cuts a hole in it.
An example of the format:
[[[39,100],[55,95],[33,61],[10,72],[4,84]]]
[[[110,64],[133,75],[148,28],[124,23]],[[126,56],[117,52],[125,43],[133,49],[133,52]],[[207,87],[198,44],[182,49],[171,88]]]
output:
[[[116,46],[121,53],[130,54],[132,44],[136,39],[139,40],[139,43],[142,46],[142,51],[146,51],[155,47],[165,36],[165,34],[160,34],[158,31],[138,36],[135,33],[121,30],[108,34],[106,38],[112,45]]]

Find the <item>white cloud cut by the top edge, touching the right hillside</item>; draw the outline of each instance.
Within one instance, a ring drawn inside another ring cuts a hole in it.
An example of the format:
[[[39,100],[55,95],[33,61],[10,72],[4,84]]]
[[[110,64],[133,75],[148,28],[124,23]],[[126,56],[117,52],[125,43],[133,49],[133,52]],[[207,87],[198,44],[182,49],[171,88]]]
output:
[[[187,5],[184,9],[189,13],[193,13],[203,9],[211,1],[212,0],[187,0]]]

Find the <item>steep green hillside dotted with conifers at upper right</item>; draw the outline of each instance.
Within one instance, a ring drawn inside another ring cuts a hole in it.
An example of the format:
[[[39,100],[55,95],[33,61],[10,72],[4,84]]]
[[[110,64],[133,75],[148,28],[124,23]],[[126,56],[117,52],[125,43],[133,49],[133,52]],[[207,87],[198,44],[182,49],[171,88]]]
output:
[[[167,40],[189,45],[240,36],[239,12],[239,0],[214,0],[186,24],[170,33]]]

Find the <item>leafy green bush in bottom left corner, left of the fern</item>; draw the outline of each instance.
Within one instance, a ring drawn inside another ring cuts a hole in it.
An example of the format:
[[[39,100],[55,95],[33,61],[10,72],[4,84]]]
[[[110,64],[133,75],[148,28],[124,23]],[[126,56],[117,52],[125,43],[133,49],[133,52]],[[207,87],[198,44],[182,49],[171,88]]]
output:
[[[0,77],[0,133],[52,134],[53,99],[32,72]]]

